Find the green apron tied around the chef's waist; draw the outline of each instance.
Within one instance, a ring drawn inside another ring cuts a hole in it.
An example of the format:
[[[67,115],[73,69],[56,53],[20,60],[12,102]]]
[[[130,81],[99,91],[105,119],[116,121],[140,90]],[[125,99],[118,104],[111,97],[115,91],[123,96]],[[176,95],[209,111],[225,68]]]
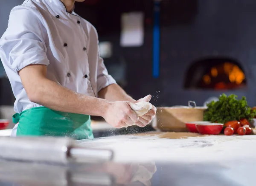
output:
[[[66,136],[76,140],[93,138],[90,116],[35,107],[16,113],[17,136]]]

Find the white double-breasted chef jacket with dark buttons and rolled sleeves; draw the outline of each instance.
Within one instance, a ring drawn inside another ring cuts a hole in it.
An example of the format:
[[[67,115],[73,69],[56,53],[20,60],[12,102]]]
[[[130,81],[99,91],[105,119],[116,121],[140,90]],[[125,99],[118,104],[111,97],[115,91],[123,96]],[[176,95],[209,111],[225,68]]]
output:
[[[47,65],[47,78],[87,96],[116,83],[99,57],[98,34],[88,21],[68,13],[60,0],[25,0],[12,9],[0,39],[0,58],[16,98],[14,110],[40,107],[29,101],[18,71]]]

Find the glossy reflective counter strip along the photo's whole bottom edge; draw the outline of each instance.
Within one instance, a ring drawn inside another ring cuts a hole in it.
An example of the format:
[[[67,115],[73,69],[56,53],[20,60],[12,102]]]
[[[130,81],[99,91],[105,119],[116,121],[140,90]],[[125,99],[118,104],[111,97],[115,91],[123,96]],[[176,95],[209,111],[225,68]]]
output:
[[[0,161],[0,186],[253,186],[254,174],[250,160],[69,166]]]

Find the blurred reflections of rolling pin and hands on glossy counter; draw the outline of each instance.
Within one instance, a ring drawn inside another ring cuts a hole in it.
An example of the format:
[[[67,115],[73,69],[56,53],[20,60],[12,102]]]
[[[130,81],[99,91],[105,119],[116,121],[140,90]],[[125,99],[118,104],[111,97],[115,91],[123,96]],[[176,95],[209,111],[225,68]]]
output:
[[[46,164],[0,162],[0,185],[151,186],[155,163]]]

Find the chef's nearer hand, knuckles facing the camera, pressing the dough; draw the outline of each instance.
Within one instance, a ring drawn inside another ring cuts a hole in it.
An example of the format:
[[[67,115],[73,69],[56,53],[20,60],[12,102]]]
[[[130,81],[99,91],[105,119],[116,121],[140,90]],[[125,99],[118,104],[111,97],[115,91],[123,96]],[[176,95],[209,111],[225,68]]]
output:
[[[130,107],[128,101],[109,103],[103,118],[115,128],[129,127],[139,120],[138,115]]]

